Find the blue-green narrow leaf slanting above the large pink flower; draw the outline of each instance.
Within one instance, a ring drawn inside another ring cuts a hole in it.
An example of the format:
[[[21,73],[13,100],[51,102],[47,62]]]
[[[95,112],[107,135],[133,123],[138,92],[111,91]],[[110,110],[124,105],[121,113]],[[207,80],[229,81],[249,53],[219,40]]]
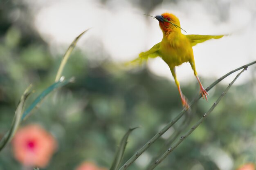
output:
[[[27,108],[27,110],[25,110],[25,112],[22,115],[21,120],[23,120],[30,112],[31,110],[36,107],[36,105],[41,102],[46,95],[48,95],[49,93],[51,93],[54,89],[58,88],[58,87],[62,87],[66,84],[68,84],[69,82],[74,81],[74,78],[68,79],[68,80],[63,80],[63,81],[58,81],[54,84],[52,84],[51,86],[49,86],[48,88],[46,88],[35,100],[34,102]]]

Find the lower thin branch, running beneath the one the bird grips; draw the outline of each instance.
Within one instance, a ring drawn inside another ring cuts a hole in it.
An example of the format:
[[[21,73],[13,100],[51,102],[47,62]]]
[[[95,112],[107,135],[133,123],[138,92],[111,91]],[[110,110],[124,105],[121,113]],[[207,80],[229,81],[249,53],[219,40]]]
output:
[[[236,75],[236,77],[233,79],[233,81],[227,86],[227,88],[225,89],[225,91],[220,95],[220,97],[216,100],[216,102],[214,102],[214,104],[211,106],[211,108],[207,111],[207,113],[205,113],[201,119],[198,120],[198,122],[192,126],[192,128],[185,133],[185,135],[180,137],[180,140],[178,140],[173,147],[169,148],[168,150],[166,150],[166,152],[164,152],[164,154],[162,154],[159,159],[155,160],[155,163],[148,169],[148,170],[153,170],[155,169],[155,167],[162,162],[167,155],[169,155],[177,146],[179,146],[180,143],[182,143],[182,141],[184,141],[184,139],[186,139],[206,118],[207,116],[209,116],[209,114],[213,111],[213,109],[218,105],[218,103],[220,102],[220,100],[222,99],[222,97],[227,93],[227,91],[229,90],[229,88],[234,84],[234,82],[236,81],[236,79],[245,71],[247,70],[247,67],[245,67],[240,73],[238,73],[238,75]]]

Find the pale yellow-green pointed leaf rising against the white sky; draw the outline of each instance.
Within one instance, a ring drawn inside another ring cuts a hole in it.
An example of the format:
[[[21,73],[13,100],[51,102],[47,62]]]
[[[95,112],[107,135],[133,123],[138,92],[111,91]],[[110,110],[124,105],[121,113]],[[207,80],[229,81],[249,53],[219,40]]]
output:
[[[73,49],[75,48],[76,46],[76,43],[77,41],[79,40],[79,38],[86,32],[88,31],[89,29],[83,31],[80,35],[78,35],[74,41],[72,42],[72,44],[70,44],[70,46],[68,47],[66,53],[64,54],[62,60],[61,60],[61,65],[60,67],[58,68],[58,72],[57,72],[57,75],[56,75],[56,78],[55,78],[55,82],[58,82],[59,79],[61,78],[61,73],[63,71],[63,68],[65,66],[65,64],[67,63],[67,59],[70,57],[70,54],[71,52],[73,51]]]

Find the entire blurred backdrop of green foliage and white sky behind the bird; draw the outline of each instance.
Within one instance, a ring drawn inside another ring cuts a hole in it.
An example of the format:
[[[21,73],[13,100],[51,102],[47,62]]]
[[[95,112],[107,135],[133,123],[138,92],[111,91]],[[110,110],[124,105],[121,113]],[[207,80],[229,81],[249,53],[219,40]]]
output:
[[[54,83],[70,43],[91,28],[64,68],[63,75],[76,81],[47,96],[21,126],[40,124],[56,139],[58,148],[45,170],[75,170],[83,161],[109,168],[126,130],[142,126],[129,137],[126,162],[182,110],[161,59],[132,69],[122,65],[162,40],[158,22],[143,14],[164,12],[174,13],[188,34],[228,35],[193,48],[204,87],[256,59],[255,0],[0,0],[0,137],[9,130],[25,88],[33,84],[35,89],[29,106]],[[186,132],[235,75],[214,87],[208,102],[200,99],[190,115],[128,169],[146,169],[166,140]],[[199,85],[189,64],[179,66],[177,76],[192,101]],[[233,170],[255,163],[255,85],[256,67],[250,66],[204,123],[156,169]],[[9,144],[0,153],[0,170],[14,169],[22,165]]]

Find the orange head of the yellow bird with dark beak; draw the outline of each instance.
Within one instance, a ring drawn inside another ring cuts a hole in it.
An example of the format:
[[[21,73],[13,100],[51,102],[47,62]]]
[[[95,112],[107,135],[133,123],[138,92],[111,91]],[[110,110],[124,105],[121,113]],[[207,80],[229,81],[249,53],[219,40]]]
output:
[[[155,18],[159,21],[159,26],[164,34],[171,32],[181,32],[180,31],[180,20],[171,13],[163,13],[162,15],[157,15]]]

